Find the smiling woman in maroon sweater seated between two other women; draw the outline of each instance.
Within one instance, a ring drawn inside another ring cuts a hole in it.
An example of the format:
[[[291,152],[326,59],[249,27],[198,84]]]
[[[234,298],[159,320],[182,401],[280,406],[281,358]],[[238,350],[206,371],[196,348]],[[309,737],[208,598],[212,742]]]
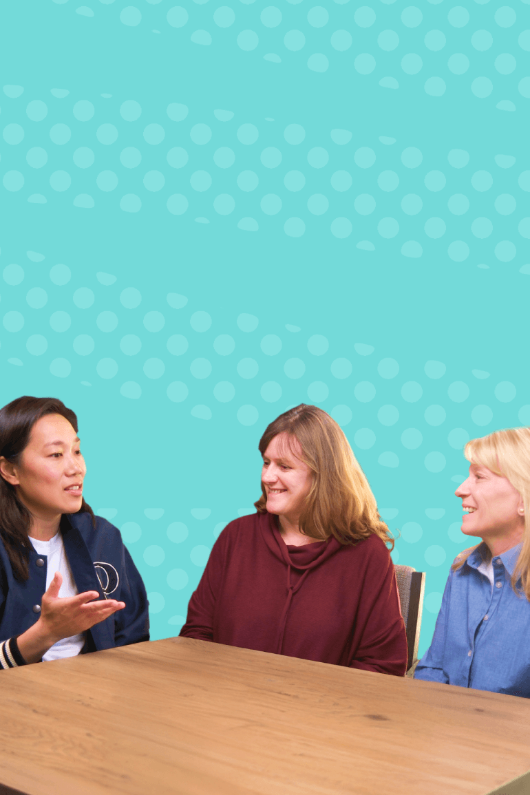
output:
[[[259,450],[257,513],[222,531],[180,634],[404,676],[393,540],[339,425],[299,405]]]

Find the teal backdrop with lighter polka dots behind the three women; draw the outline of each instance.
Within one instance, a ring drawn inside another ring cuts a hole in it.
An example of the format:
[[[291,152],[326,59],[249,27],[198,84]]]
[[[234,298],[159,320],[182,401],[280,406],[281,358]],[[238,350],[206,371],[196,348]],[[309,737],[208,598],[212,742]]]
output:
[[[530,424],[528,3],[2,9],[2,405],[78,413],[153,638],[288,406],[346,432],[427,572],[462,446]],[[399,531],[399,533],[398,533]]]

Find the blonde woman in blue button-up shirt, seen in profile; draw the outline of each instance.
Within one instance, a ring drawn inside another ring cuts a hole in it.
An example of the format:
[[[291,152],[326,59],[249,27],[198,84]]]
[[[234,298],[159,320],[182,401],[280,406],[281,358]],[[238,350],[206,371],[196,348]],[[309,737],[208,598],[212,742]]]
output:
[[[482,543],[452,564],[414,676],[530,698],[530,428],[471,440],[465,456],[462,533]]]

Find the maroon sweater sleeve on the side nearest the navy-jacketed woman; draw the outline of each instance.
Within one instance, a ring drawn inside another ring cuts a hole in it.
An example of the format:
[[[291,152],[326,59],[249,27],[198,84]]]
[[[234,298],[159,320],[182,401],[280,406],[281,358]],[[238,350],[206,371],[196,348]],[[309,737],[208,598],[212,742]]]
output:
[[[179,633],[183,638],[213,640],[215,603],[222,583],[225,550],[226,528],[215,541],[197,590],[191,594],[186,623]]]

